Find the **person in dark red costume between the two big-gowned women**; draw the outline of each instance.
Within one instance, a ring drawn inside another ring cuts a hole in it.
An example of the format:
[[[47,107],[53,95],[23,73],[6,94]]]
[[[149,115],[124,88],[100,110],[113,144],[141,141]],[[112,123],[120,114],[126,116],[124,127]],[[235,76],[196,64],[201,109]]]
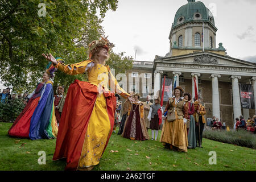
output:
[[[60,123],[60,117],[61,117],[63,106],[65,103],[65,96],[63,96],[63,93],[64,93],[63,86],[59,86],[57,88],[57,95],[54,96],[55,116],[58,124]]]

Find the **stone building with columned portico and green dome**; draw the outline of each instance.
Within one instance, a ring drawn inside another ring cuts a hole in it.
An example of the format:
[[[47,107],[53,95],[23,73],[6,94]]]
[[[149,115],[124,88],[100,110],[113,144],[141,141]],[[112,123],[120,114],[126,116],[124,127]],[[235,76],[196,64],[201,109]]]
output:
[[[218,29],[204,3],[188,0],[177,10],[170,29],[170,52],[155,56],[153,63],[134,61],[133,69],[127,72],[127,89],[141,93],[143,98],[159,94],[166,76],[176,80],[176,86],[192,93],[192,97],[196,84],[208,122],[216,116],[233,129],[240,115],[245,119],[255,115],[256,64],[228,56],[222,43],[216,43]],[[248,84],[253,90],[243,92],[241,98],[240,84]],[[253,104],[246,109],[248,105],[241,104],[241,100],[249,97]]]

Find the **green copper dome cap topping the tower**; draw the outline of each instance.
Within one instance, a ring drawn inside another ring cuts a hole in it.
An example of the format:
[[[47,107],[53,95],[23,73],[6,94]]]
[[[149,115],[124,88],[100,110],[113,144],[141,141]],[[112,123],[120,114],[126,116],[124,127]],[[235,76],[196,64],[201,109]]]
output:
[[[172,28],[185,22],[209,22],[215,27],[214,18],[210,10],[201,1],[188,0],[175,14]],[[216,28],[216,27],[215,27]],[[217,29],[217,28],[216,28]]]

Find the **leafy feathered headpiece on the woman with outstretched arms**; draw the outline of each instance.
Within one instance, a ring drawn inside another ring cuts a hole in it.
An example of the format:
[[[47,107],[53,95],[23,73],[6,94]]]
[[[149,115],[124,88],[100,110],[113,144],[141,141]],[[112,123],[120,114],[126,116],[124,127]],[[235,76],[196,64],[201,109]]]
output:
[[[93,51],[97,51],[98,48],[104,47],[109,52],[109,50],[114,47],[114,44],[110,43],[107,38],[108,36],[106,36],[106,38],[101,36],[100,40],[93,40],[93,42],[89,44],[89,59],[92,58]]]

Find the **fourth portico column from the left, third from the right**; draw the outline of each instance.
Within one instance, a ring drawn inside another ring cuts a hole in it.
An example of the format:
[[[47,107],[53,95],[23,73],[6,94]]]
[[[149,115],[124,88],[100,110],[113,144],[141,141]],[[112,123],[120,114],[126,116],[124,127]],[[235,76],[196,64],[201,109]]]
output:
[[[212,77],[212,114],[216,118],[220,118],[220,96],[218,93],[218,78],[220,78],[220,75],[214,75],[212,74],[210,77]]]

